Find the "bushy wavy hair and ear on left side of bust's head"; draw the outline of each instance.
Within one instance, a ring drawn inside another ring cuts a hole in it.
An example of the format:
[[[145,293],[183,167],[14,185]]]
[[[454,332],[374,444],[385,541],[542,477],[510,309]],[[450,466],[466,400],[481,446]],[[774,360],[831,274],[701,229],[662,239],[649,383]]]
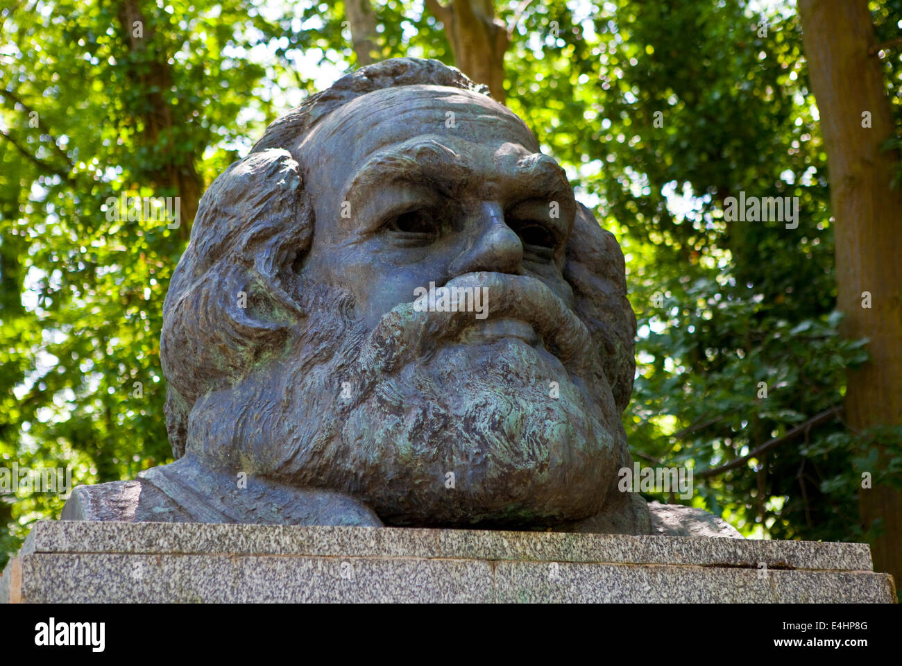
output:
[[[281,282],[312,227],[288,151],[251,153],[207,189],[163,305],[161,363],[179,412],[244,375],[303,316]]]

